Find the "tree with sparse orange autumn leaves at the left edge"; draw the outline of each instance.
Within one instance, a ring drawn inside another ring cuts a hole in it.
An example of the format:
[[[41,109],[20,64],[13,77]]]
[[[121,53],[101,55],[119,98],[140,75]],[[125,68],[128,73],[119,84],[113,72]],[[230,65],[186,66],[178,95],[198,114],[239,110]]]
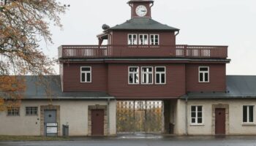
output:
[[[61,27],[65,10],[56,0],[0,0],[0,110],[22,98],[22,75],[53,74],[56,61],[39,49],[39,38],[53,43],[49,24]]]

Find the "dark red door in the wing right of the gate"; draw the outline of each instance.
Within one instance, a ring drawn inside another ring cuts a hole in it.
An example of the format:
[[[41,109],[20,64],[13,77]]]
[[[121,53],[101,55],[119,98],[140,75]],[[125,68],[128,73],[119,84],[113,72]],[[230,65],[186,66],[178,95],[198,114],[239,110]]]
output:
[[[215,134],[224,135],[226,132],[225,109],[215,109]]]

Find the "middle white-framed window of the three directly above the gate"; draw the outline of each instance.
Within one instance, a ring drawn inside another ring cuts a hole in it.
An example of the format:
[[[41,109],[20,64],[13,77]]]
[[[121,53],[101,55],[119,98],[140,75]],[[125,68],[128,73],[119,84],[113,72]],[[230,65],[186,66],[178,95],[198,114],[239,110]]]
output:
[[[153,67],[141,67],[141,83],[153,84]]]

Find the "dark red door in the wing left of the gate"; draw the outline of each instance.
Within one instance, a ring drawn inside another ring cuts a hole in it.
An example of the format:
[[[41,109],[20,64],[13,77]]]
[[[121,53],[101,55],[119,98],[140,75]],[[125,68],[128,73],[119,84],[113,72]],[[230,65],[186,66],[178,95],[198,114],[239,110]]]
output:
[[[91,135],[104,135],[104,110],[91,110]]]

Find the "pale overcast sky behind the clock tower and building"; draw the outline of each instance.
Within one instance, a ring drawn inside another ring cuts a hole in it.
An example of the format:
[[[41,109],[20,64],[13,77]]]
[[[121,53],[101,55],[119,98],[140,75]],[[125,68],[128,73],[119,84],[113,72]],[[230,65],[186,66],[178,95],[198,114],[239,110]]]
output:
[[[102,24],[130,19],[128,0],[59,1],[70,7],[61,16],[63,29],[50,27],[54,45],[42,42],[51,57],[59,45],[97,45]],[[256,75],[255,0],[155,0],[152,18],[181,29],[178,45],[228,45],[227,74]]]

